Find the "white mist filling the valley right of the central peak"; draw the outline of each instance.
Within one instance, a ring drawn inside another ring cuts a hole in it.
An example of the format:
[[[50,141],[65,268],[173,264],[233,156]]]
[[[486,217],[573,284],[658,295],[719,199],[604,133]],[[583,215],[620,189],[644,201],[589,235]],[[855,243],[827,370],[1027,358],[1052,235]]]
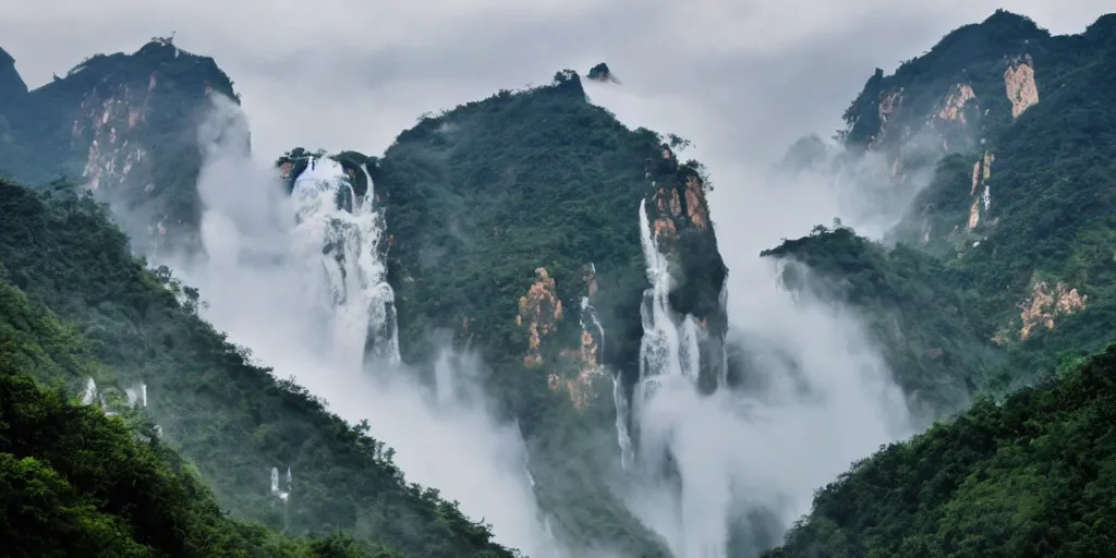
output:
[[[882,156],[840,160],[836,146],[820,141],[809,165],[757,163],[747,153],[735,156],[734,148],[747,151],[739,145],[701,150],[701,129],[671,122],[638,93],[589,93],[629,127],[694,141],[680,158],[703,161],[715,186],[709,201],[729,267],[730,362],[745,376],[708,396],[692,382],[663,383],[634,417],[641,459],[652,471],[637,471],[618,490],[679,557],[756,556],[809,512],[816,489],[916,427],[862,318],[809,289],[788,291],[780,272],[798,263],[759,253],[835,218],[879,240],[930,176],[912,175],[894,191]],[[656,474],[664,454],[676,478]]]

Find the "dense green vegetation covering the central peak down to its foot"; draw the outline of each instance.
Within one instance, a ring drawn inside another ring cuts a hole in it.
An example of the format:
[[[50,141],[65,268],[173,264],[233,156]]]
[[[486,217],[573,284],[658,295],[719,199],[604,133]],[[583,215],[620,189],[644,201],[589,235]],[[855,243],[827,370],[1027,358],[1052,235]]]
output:
[[[663,550],[604,484],[614,463],[600,456],[617,452],[607,373],[575,387],[590,394],[581,408],[571,401],[578,395],[555,389],[548,375],[580,382],[599,358],[634,383],[648,286],[639,203],[656,187],[681,190],[703,174],[696,162],[677,161],[671,143],[684,147],[681,140],[631,131],[589,104],[581,78],[566,70],[548,86],[503,90],[425,116],[383,157],[363,162],[385,210],[404,359],[429,362],[437,330],[479,349],[488,392],[531,448],[538,496],[556,529],[577,543],[614,545],[636,556]],[[288,154],[292,172],[302,155]],[[337,157],[346,167],[362,164],[354,152]],[[362,190],[363,173],[352,174]],[[675,307],[709,316],[723,330],[724,264],[712,230],[681,221],[677,230],[687,250],[677,251]],[[548,304],[542,315],[517,321],[538,268],[554,279],[562,312]],[[580,300],[589,295],[605,328],[597,339],[603,352],[570,358],[579,354]],[[528,365],[532,319],[552,329],[540,336],[539,360]]]

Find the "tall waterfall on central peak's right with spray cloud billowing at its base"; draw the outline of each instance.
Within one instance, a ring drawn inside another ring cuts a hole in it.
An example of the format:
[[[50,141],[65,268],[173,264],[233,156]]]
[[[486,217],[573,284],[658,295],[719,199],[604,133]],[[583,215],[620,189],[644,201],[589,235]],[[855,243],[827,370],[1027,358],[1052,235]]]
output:
[[[814,489],[908,433],[903,396],[848,312],[786,291],[778,268],[762,261],[732,268],[740,295],[729,308],[730,331],[762,378],[733,391],[722,362],[703,396],[698,329],[670,307],[668,261],[644,203],[639,225],[652,287],[632,402],[642,466],[627,503],[680,558],[758,555],[778,540],[740,540],[745,514],[789,527]],[[675,481],[662,477],[667,463]]]

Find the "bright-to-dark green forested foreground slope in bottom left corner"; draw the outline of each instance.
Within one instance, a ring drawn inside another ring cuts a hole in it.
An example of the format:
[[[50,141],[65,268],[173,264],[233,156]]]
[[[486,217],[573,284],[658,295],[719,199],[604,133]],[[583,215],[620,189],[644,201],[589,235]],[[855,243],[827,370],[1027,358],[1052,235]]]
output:
[[[0,278],[6,556],[373,556],[345,536],[297,541],[229,518],[142,411],[75,401],[93,376],[110,386],[78,335]]]

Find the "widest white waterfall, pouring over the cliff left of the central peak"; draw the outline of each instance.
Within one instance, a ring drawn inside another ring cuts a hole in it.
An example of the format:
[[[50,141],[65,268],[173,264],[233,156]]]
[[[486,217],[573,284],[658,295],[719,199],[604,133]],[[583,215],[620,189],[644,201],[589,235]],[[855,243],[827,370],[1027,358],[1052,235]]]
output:
[[[311,160],[291,191],[298,224],[294,250],[326,285],[334,308],[329,337],[339,353],[363,362],[400,362],[395,291],[381,257],[383,219],[373,208],[373,184],[357,198],[349,177],[330,158]],[[349,210],[350,211],[347,211]],[[318,254],[315,257],[314,254]],[[317,269],[314,269],[316,267]]]

